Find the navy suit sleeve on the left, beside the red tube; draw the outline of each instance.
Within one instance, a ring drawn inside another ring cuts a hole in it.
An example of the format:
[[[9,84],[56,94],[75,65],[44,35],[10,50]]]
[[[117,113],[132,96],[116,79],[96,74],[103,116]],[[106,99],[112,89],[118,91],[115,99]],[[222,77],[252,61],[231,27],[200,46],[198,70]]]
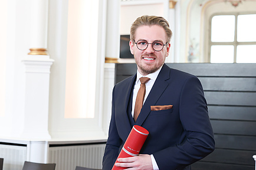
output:
[[[120,137],[116,129],[116,120],[114,112],[114,89],[112,94],[112,113],[109,126],[109,138],[103,156],[103,170],[110,170],[113,168],[114,162],[116,162],[117,156],[119,155],[119,142]]]

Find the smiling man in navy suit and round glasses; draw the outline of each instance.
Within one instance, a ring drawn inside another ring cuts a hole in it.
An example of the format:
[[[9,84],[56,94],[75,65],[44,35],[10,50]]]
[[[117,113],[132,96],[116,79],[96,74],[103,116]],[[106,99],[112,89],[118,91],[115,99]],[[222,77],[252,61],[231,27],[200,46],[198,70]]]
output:
[[[132,24],[129,45],[137,74],[113,88],[104,170],[113,167],[133,125],[147,129],[149,136],[140,155],[120,158],[116,166],[191,169],[193,162],[214,151],[214,135],[201,82],[196,76],[165,65],[171,36],[168,22],[159,16],[141,16]],[[141,77],[150,79],[146,82],[144,104],[139,116],[135,116]]]

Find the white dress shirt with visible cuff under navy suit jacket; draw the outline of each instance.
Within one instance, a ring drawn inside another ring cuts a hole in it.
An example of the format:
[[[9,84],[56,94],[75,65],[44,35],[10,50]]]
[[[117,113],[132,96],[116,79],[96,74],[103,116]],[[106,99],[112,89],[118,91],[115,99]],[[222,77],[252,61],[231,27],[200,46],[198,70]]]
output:
[[[160,72],[160,70],[162,69],[162,66],[155,72],[151,73],[151,74],[148,74],[146,75],[147,78],[150,78],[150,80],[148,82],[146,82],[146,94],[145,94],[145,98],[144,98],[144,101],[143,101],[143,104],[144,102],[146,101],[147,99],[147,96],[149,95],[149,92],[151,91],[152,89],[152,86],[155,84],[155,81],[156,81],[156,78]],[[137,97],[137,93],[140,89],[140,78],[143,77],[143,75],[141,75],[139,73],[139,71],[137,70],[137,78],[136,78],[136,82],[135,82],[135,85],[134,85],[134,89],[133,89],[133,103],[132,103],[132,116],[134,115],[134,107],[135,107],[135,102],[136,102],[136,97]],[[153,169],[154,170],[159,170],[157,164],[156,164],[156,160],[154,158],[153,155],[150,155],[151,156],[151,161],[152,161],[152,165],[153,165]]]

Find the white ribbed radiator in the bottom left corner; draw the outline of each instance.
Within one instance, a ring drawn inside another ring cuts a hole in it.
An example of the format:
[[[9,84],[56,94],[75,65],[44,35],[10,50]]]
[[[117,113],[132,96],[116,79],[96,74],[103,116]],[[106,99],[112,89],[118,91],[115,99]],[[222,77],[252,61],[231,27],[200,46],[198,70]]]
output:
[[[4,170],[21,170],[27,159],[27,146],[0,144],[0,158],[4,158]]]

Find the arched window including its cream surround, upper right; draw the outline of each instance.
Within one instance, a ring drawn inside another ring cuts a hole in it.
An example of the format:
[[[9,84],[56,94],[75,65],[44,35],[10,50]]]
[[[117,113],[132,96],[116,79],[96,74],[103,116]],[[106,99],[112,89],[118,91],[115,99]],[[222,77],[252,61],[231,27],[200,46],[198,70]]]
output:
[[[206,62],[256,62],[256,1],[205,3],[201,52]]]

